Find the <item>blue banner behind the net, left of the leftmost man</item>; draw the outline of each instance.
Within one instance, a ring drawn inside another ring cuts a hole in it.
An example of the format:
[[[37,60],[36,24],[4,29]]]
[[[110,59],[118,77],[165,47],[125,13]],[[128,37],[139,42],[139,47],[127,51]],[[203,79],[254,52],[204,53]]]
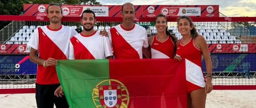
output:
[[[36,74],[36,69],[28,55],[0,55],[0,75]]]

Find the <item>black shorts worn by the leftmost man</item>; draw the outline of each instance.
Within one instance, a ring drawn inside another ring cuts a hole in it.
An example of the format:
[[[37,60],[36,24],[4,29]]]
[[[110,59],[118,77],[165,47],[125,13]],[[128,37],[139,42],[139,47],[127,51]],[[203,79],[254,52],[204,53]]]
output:
[[[35,99],[37,108],[53,108],[53,104],[56,108],[69,108],[65,96],[59,98],[54,96],[54,91],[59,86],[60,84],[41,85],[36,83]]]

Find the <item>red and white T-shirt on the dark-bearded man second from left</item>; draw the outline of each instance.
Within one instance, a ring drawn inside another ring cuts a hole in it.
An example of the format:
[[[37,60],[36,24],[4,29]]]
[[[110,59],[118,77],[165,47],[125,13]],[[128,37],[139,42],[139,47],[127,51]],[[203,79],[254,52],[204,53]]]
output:
[[[85,36],[79,33],[70,39],[68,59],[106,59],[112,56],[108,37],[100,36],[99,31]]]

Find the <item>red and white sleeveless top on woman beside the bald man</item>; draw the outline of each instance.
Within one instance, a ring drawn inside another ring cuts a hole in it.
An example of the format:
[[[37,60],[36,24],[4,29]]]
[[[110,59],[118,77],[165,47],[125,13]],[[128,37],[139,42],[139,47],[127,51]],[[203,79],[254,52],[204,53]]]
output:
[[[157,35],[153,37],[151,44],[151,58],[152,59],[173,59],[174,58],[174,43],[171,38],[161,42],[157,39]]]

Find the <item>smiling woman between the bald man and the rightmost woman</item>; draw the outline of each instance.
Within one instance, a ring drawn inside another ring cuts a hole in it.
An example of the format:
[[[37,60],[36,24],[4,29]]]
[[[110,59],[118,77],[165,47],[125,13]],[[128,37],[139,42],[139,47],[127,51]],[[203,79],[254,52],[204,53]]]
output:
[[[152,59],[173,59],[176,51],[176,37],[167,30],[165,15],[159,14],[155,20],[157,34],[149,37],[149,45]]]

